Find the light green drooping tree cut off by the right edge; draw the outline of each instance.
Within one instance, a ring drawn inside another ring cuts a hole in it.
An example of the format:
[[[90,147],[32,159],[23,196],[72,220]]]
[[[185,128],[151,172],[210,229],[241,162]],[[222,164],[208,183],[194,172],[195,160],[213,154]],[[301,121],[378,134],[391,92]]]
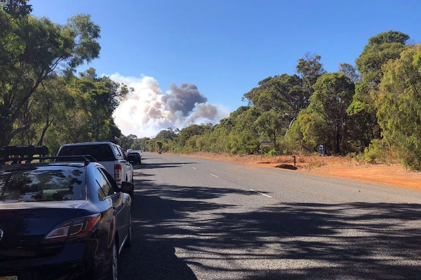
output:
[[[378,108],[382,136],[401,163],[421,169],[421,44],[382,67]]]

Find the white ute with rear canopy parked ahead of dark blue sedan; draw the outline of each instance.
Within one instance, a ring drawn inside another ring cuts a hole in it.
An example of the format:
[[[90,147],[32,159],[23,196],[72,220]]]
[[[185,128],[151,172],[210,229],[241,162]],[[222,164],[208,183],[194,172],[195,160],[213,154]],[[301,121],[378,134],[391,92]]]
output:
[[[84,142],[64,144],[57,156],[91,155],[114,176],[119,188],[123,181],[133,183],[133,167],[128,162],[123,149],[112,142]]]

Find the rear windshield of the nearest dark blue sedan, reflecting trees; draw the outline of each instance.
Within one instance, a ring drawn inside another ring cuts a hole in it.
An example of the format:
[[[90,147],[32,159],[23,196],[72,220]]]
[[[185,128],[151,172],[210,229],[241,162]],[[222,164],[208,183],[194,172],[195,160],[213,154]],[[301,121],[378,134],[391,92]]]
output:
[[[83,169],[13,170],[0,172],[0,204],[84,200]]]

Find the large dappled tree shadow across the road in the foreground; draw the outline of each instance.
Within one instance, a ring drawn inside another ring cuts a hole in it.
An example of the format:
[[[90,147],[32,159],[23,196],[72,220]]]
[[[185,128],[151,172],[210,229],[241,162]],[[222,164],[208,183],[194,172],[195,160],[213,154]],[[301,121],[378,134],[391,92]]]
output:
[[[197,279],[190,267],[219,279],[420,279],[420,204],[280,203],[242,212],[211,200],[250,196],[246,190],[142,184],[129,254],[149,277],[123,279]],[[174,248],[195,257],[177,258]],[[213,265],[221,259],[238,265]],[[256,265],[264,262],[276,265]]]

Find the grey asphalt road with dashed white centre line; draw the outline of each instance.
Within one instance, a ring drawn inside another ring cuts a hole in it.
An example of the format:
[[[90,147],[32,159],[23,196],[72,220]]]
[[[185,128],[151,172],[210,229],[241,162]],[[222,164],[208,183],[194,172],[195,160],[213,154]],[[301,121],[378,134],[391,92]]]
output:
[[[120,279],[421,279],[421,192],[142,153]]]

